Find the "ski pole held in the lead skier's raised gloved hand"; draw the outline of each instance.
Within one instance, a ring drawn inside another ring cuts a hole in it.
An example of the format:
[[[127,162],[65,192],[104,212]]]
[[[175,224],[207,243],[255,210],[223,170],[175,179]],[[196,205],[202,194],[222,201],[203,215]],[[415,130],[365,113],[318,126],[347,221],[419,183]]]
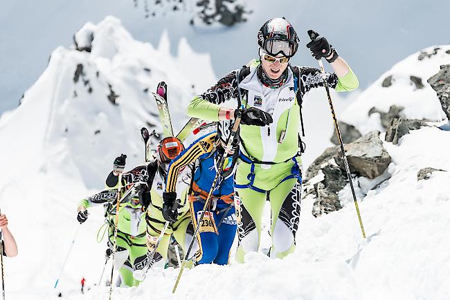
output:
[[[308,30],[308,35],[312,41],[314,41],[318,37],[317,32],[314,32],[313,30]],[[354,194],[352,175],[350,174],[350,167],[348,166],[347,156],[345,156],[345,149],[344,149],[344,144],[342,141],[341,131],[339,130],[339,124],[337,122],[336,113],[334,112],[334,107],[333,107],[333,103],[332,103],[331,96],[330,96],[330,88],[328,87],[327,75],[325,75],[325,68],[323,68],[322,59],[318,59],[318,65],[321,67],[323,86],[325,86],[325,91],[327,91],[328,103],[330,104],[330,109],[331,109],[333,122],[334,122],[334,129],[336,129],[336,135],[338,136],[339,145],[341,146],[342,160],[344,162],[345,171],[347,172],[348,182],[350,182],[350,189],[352,189],[354,207],[357,209],[359,226],[361,227],[361,232],[363,233],[363,238],[366,238],[366,232],[364,232],[363,221],[361,220],[361,214],[359,214],[357,196]]]

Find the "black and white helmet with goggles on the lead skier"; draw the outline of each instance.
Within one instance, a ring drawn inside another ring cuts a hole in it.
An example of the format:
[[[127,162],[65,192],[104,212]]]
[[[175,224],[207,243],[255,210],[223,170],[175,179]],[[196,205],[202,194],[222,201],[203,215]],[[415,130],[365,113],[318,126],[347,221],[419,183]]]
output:
[[[282,53],[293,57],[299,41],[296,30],[285,18],[270,19],[258,31],[258,45],[272,56]]]

